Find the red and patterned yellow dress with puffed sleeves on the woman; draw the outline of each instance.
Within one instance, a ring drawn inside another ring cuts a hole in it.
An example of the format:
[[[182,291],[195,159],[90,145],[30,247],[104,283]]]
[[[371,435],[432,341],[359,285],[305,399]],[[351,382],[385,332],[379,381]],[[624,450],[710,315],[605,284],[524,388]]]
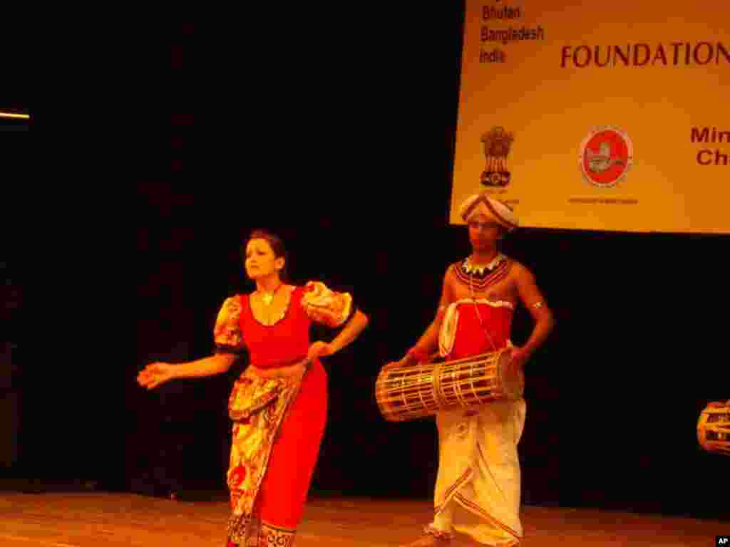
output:
[[[347,293],[310,282],[296,287],[283,317],[263,325],[248,295],[228,298],[218,314],[219,351],[247,349],[256,368],[275,370],[304,360],[312,321],[344,325]],[[263,379],[252,368],[236,381],[228,488],[228,545],[292,546],[317,462],[327,415],[327,375],[319,360],[303,378]]]

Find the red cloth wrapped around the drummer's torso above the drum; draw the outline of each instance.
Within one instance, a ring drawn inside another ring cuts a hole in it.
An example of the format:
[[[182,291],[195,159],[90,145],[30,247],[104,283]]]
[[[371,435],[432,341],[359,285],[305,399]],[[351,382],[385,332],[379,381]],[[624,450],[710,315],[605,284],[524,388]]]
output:
[[[477,303],[458,304],[458,324],[448,360],[494,352],[507,347],[514,312],[507,306]],[[480,321],[481,317],[481,321]]]

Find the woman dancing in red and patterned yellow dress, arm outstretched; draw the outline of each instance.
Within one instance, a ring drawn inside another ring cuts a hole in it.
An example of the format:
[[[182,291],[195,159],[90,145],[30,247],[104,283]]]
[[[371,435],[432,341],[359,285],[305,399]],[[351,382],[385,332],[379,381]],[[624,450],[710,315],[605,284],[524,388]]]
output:
[[[224,373],[237,354],[250,355],[228,401],[234,422],[228,547],[293,546],[326,422],[327,378],[319,357],[350,344],[368,323],[347,292],[321,282],[285,284],[285,265],[280,238],[252,233],[245,268],[256,290],[223,303],[215,354],[177,365],[155,362],[138,376],[153,389],[175,378]],[[310,344],[312,322],[343,328],[330,343]]]

